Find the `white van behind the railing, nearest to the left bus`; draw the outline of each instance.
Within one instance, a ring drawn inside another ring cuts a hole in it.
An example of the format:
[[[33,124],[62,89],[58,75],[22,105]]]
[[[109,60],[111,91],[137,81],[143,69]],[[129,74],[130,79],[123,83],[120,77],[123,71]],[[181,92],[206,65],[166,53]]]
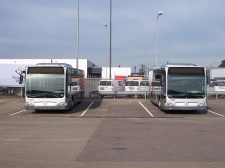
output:
[[[98,91],[103,98],[107,95],[114,95],[115,92],[124,91],[124,84],[122,80],[100,80]]]

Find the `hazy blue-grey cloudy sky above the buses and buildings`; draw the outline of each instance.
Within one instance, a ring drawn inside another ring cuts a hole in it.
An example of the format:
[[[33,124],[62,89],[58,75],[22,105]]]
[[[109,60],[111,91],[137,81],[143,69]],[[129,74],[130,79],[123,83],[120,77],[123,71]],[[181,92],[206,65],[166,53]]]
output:
[[[111,65],[154,67],[158,44],[159,66],[219,66],[224,6],[224,0],[112,0]],[[0,59],[76,59],[76,32],[77,0],[0,0]],[[78,58],[109,66],[109,34],[110,0],[79,0]]]

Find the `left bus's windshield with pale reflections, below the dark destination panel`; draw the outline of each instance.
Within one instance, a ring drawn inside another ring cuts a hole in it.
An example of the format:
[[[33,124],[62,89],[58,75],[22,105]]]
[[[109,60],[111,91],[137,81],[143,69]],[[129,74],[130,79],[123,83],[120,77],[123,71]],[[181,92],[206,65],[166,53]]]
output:
[[[64,97],[64,74],[27,74],[26,96],[29,98]]]

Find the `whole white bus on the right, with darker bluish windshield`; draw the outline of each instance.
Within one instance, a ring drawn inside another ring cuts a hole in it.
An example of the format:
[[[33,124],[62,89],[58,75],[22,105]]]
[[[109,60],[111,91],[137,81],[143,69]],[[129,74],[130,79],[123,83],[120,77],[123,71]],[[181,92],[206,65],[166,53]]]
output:
[[[151,102],[160,110],[206,110],[206,69],[194,64],[166,64],[153,70],[152,82],[160,89],[150,92]]]

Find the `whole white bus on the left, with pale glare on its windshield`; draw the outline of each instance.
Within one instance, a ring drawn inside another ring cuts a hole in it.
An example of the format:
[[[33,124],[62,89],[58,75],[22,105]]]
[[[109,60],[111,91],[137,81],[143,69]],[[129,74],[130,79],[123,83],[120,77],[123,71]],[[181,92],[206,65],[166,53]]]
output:
[[[65,63],[26,67],[26,110],[69,110],[82,101],[84,71]]]

